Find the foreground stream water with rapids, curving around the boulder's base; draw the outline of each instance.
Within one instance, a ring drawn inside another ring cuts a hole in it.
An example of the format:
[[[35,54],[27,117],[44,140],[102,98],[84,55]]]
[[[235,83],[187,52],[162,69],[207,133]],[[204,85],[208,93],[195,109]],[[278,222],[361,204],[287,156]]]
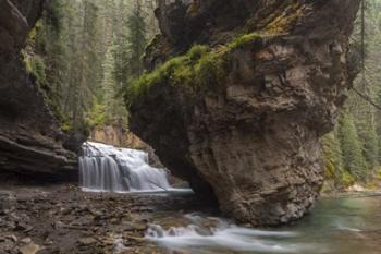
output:
[[[380,197],[322,198],[309,216],[283,228],[249,229],[190,214],[174,226],[158,219],[146,238],[169,253],[380,254]]]

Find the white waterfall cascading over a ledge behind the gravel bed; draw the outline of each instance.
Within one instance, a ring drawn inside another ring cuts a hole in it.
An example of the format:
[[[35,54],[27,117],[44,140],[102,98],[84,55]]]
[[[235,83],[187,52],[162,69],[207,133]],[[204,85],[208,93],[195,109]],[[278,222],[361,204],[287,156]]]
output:
[[[79,182],[84,191],[136,192],[171,189],[167,172],[149,166],[148,154],[86,142],[79,157]]]

